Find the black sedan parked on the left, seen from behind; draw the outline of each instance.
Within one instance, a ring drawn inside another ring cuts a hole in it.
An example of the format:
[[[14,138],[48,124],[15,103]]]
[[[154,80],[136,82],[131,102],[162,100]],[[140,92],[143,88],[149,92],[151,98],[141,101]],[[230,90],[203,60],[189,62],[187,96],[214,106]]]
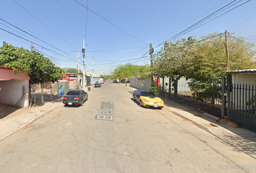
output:
[[[67,105],[83,105],[88,100],[88,93],[82,89],[70,90],[64,97],[63,103]]]

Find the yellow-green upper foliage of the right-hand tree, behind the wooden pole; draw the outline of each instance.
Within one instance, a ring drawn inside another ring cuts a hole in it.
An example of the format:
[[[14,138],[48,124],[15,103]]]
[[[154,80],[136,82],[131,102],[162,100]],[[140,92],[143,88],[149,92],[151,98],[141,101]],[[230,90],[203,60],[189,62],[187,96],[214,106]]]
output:
[[[231,36],[231,35],[230,35]],[[225,36],[215,32],[201,37],[195,43],[192,56],[187,62],[186,76],[190,79],[203,79],[226,75]],[[256,51],[254,45],[244,39],[229,37],[229,70],[255,68]]]

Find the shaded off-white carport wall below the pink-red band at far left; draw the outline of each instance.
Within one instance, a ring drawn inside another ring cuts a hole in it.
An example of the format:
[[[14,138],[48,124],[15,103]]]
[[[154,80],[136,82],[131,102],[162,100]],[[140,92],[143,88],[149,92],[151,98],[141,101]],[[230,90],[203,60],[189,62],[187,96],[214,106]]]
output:
[[[0,103],[7,105],[17,104],[17,107],[28,107],[28,86],[27,80],[12,79],[10,81],[1,81]],[[22,94],[25,95],[22,97]],[[18,102],[19,100],[20,102]]]

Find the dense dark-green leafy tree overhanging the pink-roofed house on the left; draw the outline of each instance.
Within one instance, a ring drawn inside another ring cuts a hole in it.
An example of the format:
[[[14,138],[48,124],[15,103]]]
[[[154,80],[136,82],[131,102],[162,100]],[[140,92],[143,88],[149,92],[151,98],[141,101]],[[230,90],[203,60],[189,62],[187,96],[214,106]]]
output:
[[[15,74],[26,72],[33,84],[55,82],[64,76],[61,68],[51,63],[49,58],[40,53],[24,48],[17,48],[3,42],[0,47],[0,66],[12,68]]]

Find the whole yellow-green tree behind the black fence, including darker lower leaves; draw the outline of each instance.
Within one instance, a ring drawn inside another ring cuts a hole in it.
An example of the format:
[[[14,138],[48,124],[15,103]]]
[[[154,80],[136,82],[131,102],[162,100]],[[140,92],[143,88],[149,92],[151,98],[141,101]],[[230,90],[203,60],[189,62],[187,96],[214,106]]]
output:
[[[231,36],[231,35],[230,35]],[[255,68],[255,50],[244,39],[229,36],[229,70]],[[215,32],[195,43],[187,61],[185,76],[197,100],[214,100],[221,94],[221,77],[226,76],[225,36]]]

